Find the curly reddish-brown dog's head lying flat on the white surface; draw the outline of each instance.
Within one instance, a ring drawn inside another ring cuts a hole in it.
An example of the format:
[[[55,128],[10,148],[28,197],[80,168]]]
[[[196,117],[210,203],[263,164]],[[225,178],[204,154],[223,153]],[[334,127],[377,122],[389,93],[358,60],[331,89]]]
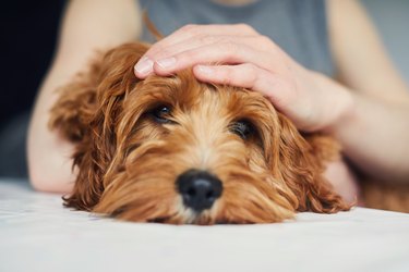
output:
[[[64,87],[51,124],[76,143],[65,205],[140,222],[264,223],[348,207],[322,176],[323,152],[262,95],[144,81],[141,44],[108,51]]]

